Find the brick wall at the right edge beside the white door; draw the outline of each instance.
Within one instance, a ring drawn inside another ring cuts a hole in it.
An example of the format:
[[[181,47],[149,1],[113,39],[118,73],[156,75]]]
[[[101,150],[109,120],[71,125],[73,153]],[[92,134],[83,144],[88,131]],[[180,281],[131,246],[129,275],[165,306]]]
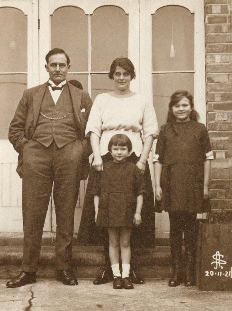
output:
[[[232,0],[205,0],[205,22],[211,206],[232,210]]]

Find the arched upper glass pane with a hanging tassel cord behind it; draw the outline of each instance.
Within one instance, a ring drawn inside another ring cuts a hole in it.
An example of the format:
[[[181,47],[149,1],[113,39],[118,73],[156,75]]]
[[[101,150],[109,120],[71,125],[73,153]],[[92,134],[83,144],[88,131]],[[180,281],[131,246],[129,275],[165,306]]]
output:
[[[172,44],[175,57],[170,57]],[[167,6],[152,15],[153,71],[194,70],[194,15],[179,6]]]

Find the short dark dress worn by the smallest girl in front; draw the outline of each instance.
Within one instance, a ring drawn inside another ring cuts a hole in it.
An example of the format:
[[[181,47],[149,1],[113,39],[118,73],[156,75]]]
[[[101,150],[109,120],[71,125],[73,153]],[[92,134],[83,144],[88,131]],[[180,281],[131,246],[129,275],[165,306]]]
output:
[[[91,191],[100,197],[97,226],[132,228],[137,197],[145,192],[143,175],[135,164],[106,162],[104,170],[96,172]]]

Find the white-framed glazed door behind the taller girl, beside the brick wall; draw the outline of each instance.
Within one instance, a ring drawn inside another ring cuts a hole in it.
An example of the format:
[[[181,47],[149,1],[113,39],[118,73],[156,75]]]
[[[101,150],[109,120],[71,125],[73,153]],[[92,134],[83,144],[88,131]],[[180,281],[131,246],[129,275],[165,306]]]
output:
[[[183,89],[194,95],[206,123],[204,1],[139,0],[139,25],[140,91],[153,102],[159,126],[166,122],[170,96]],[[169,235],[166,212],[157,213],[156,232]]]

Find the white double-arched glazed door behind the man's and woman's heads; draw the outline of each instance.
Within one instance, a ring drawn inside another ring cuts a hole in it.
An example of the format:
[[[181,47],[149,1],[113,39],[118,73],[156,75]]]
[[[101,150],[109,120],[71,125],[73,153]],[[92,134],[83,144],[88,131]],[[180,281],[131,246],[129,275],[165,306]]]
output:
[[[138,0],[40,0],[39,1],[39,83],[48,80],[45,56],[55,47],[70,57],[67,80],[78,80],[92,100],[113,89],[108,72],[120,56],[134,63],[137,78],[131,88],[139,92],[139,1]],[[75,209],[77,232],[87,182],[81,182]],[[52,202],[52,230],[56,230]]]

